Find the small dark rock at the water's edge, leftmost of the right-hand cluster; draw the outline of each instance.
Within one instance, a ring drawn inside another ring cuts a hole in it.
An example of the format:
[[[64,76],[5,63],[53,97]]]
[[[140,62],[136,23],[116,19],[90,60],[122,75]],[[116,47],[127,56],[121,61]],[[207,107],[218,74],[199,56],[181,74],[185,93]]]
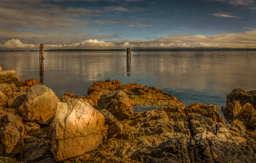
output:
[[[242,106],[240,106],[240,101],[233,101],[228,103],[226,107],[223,106],[221,111],[226,118],[233,120],[234,116],[239,113],[241,108]]]

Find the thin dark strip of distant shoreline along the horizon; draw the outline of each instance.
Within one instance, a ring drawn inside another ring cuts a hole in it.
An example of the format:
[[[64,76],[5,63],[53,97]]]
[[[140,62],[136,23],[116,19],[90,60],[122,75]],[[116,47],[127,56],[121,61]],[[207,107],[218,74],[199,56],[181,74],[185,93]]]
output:
[[[134,48],[132,51],[256,51],[256,48],[215,48],[215,47],[188,47],[188,48],[172,48],[172,49],[139,49]],[[33,52],[39,50],[0,50],[0,52]],[[126,51],[126,49],[55,49],[45,51]]]

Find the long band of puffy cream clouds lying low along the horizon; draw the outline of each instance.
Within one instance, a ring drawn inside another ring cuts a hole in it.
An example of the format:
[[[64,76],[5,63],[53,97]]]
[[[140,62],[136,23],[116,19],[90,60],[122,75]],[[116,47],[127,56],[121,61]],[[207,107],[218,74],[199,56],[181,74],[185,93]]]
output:
[[[22,43],[21,40],[11,39],[0,44],[1,49],[33,49],[39,45]],[[256,48],[256,29],[244,33],[223,33],[218,35],[167,35],[154,40],[115,40],[102,41],[97,39],[84,40],[72,44],[45,44],[49,49],[116,49],[125,47],[141,48],[172,48],[172,47],[236,47]]]

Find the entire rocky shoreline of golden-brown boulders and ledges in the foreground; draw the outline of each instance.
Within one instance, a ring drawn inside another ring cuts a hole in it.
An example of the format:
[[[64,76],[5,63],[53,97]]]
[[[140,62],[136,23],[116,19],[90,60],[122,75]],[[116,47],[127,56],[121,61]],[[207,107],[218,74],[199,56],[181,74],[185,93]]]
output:
[[[227,95],[226,122],[218,106],[117,80],[58,99],[0,67],[0,162],[256,162],[255,109],[256,90]]]

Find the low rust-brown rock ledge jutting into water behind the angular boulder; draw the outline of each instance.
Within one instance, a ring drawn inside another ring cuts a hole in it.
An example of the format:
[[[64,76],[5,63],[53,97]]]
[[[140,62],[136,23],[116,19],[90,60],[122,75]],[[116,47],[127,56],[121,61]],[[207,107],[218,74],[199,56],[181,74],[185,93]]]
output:
[[[95,81],[87,91],[86,101],[96,108],[97,101],[104,94],[112,91],[122,90],[130,99],[132,106],[134,105],[151,105],[151,106],[182,106],[180,99],[176,99],[171,94],[165,94],[161,89],[151,88],[135,84],[123,84],[117,80]]]

